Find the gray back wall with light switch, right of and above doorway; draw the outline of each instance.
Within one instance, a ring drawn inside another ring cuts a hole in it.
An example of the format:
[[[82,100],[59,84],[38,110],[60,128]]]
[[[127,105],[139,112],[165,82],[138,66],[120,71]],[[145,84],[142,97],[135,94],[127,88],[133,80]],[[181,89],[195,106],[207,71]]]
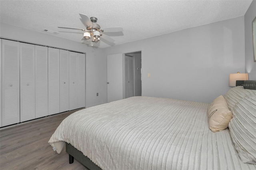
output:
[[[244,16],[108,47],[104,54],[140,50],[142,96],[210,103],[230,89],[230,73],[245,71]]]

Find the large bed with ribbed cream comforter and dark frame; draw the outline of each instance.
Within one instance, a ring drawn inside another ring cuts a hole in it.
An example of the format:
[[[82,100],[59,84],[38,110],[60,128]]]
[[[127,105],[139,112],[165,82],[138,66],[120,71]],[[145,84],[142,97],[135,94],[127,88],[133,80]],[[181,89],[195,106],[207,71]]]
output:
[[[256,81],[237,85],[246,96],[238,99],[232,91],[226,97],[232,98],[234,112],[244,108],[245,99],[250,103],[252,129],[246,137],[251,139],[242,147],[252,160],[241,159],[243,141],[234,142],[236,122],[229,123],[235,130],[209,129],[209,103],[156,97],[130,97],[77,111],[62,121],[49,143],[58,153],[66,144],[69,162],[75,158],[91,170],[256,170]]]

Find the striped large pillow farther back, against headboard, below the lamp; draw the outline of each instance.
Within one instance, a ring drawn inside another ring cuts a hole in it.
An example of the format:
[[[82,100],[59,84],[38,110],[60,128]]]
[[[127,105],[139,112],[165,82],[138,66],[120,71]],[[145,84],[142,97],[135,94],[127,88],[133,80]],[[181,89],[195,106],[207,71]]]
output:
[[[236,86],[228,90],[228,92],[224,95],[228,103],[228,108],[231,110],[234,105],[244,97],[255,94],[256,90],[244,89],[243,86]]]

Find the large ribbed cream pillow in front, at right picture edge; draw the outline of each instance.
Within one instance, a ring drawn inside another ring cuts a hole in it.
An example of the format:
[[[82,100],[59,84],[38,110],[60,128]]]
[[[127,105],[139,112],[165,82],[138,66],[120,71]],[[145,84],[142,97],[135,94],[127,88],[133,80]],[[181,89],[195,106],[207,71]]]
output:
[[[231,138],[242,162],[256,164],[256,95],[238,101],[229,123]]]

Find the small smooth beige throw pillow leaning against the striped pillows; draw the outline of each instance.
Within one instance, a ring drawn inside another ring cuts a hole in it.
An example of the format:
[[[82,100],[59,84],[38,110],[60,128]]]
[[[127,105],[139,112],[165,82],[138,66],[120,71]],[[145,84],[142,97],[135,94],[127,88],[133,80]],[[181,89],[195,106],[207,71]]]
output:
[[[232,113],[228,109],[228,104],[221,95],[214,99],[208,107],[209,128],[212,132],[224,130],[232,118]]]

